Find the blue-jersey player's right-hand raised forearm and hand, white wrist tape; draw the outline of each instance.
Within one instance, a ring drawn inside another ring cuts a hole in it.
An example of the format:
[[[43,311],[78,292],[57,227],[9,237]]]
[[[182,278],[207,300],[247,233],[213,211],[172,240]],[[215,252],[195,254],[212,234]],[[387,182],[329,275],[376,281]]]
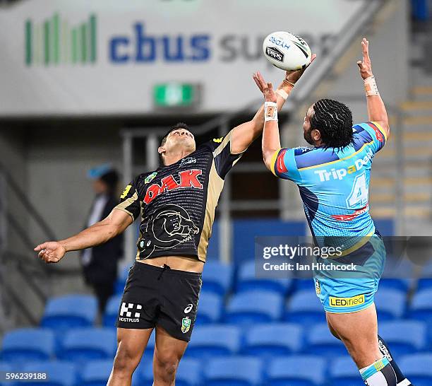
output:
[[[369,57],[369,42],[365,37],[361,40],[361,49],[363,51],[363,60],[359,60],[357,64],[366,89],[368,119],[369,121],[378,122],[385,131],[385,136],[388,137],[390,135],[390,126],[388,124],[387,111],[376,87],[375,77],[372,73],[371,58]]]

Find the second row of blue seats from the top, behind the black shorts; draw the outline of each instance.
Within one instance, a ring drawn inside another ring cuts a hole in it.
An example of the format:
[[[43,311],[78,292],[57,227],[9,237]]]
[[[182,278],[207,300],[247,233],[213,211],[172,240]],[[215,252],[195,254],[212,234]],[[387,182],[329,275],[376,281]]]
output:
[[[103,320],[105,327],[114,326],[120,301],[121,295],[109,300]],[[432,322],[432,288],[415,293],[410,304],[407,304],[404,291],[380,288],[375,303],[380,322],[402,317]],[[96,315],[97,302],[93,296],[52,298],[47,303],[41,326],[59,331],[72,327],[92,327]],[[218,293],[203,290],[200,295],[197,324],[251,324],[270,321],[315,324],[325,322],[325,314],[313,288],[293,293],[287,302],[284,296],[270,288],[234,293],[226,304],[225,298]]]

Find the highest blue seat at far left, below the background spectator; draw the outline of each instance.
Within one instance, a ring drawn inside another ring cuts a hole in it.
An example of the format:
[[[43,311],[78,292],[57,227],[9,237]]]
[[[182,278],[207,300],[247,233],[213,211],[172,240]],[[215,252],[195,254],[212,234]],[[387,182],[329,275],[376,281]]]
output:
[[[95,323],[96,315],[97,300],[95,296],[59,296],[48,300],[41,325],[57,330],[89,327]]]

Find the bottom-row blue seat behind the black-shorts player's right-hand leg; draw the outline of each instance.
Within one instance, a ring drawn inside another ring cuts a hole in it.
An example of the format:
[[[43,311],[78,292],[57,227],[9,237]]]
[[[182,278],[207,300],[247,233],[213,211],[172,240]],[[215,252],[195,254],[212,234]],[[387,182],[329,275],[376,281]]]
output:
[[[202,365],[198,359],[183,358],[176,372],[176,386],[199,386],[203,385]],[[140,373],[140,385],[152,385],[152,366],[145,366]]]

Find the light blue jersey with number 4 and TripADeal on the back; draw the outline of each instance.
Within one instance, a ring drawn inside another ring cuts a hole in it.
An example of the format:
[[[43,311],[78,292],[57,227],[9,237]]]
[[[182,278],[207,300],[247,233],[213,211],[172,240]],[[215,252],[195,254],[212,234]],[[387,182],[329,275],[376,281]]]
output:
[[[340,150],[281,148],[271,163],[277,177],[298,185],[312,235],[352,240],[344,245],[347,253],[375,232],[368,206],[371,165],[387,139],[377,122],[356,124],[353,131],[354,143]]]

